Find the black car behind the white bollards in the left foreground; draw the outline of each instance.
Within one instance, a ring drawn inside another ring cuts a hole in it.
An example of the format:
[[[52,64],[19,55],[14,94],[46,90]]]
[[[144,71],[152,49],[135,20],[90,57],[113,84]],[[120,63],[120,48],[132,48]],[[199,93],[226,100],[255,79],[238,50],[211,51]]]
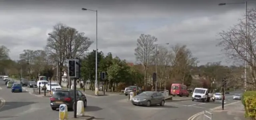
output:
[[[84,101],[84,107],[87,106],[86,96],[80,91],[76,90],[76,99],[74,99],[74,90],[55,90],[50,98],[50,106],[52,110],[56,110],[61,104],[66,104],[68,110],[74,110],[74,101]]]

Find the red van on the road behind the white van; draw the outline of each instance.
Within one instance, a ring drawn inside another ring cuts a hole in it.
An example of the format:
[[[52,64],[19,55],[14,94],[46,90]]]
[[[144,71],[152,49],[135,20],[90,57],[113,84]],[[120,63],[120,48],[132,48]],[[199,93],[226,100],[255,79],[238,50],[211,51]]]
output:
[[[172,94],[172,96],[189,96],[187,86],[184,84],[172,84],[170,93]]]

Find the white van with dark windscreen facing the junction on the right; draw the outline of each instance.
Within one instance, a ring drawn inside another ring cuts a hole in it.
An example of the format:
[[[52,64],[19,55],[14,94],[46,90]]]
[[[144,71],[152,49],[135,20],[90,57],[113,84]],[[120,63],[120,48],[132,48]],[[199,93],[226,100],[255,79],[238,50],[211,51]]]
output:
[[[215,101],[215,98],[210,94],[210,90],[206,88],[195,88],[192,94],[192,101],[202,101],[210,102],[210,100]]]

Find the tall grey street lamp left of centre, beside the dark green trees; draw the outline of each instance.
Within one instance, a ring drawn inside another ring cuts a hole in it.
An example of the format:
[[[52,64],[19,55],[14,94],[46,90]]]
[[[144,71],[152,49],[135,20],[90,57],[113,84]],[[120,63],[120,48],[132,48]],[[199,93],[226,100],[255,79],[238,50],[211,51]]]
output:
[[[95,94],[98,95],[98,74],[97,74],[97,69],[98,69],[98,10],[91,10],[91,9],[86,9],[82,8],[82,10],[88,10],[88,11],[93,11],[96,12],[96,53],[95,53]]]

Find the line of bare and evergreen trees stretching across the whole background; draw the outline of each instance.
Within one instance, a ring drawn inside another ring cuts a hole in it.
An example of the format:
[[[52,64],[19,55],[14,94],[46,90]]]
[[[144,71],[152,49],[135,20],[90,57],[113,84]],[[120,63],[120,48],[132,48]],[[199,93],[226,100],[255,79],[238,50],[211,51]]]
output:
[[[106,88],[123,89],[128,85],[143,86],[152,90],[152,73],[157,71],[157,88],[169,89],[172,83],[185,84],[190,88],[220,88],[224,78],[228,80],[228,88],[256,89],[256,51],[255,51],[255,24],[256,10],[248,12],[248,32],[245,32],[245,23],[240,20],[233,28],[221,31],[218,46],[222,52],[234,62],[233,66],[223,66],[221,62],[209,62],[198,66],[198,59],[186,45],[160,45],[155,36],[141,34],[134,49],[137,64],[113,56],[111,52],[100,51],[98,55],[98,73],[106,72]],[[246,40],[245,40],[246,38]],[[24,50],[20,60],[11,60],[9,50],[0,47],[0,74],[19,77],[36,78],[38,74],[47,75],[50,79],[58,79],[67,71],[67,59],[80,57],[82,59],[82,80],[90,80],[91,88],[95,84],[95,54],[96,50],[88,52],[93,40],[64,24],[56,24],[49,33],[45,50]],[[159,44],[156,48],[156,44]],[[247,53],[245,55],[245,52]],[[107,53],[107,54],[104,54]],[[246,57],[247,56],[247,57]],[[244,62],[248,63],[247,74],[244,79]],[[56,73],[58,66],[59,73]],[[56,78],[58,74],[58,78]],[[68,86],[71,86],[69,80]],[[100,77],[98,77],[100,81]]]

